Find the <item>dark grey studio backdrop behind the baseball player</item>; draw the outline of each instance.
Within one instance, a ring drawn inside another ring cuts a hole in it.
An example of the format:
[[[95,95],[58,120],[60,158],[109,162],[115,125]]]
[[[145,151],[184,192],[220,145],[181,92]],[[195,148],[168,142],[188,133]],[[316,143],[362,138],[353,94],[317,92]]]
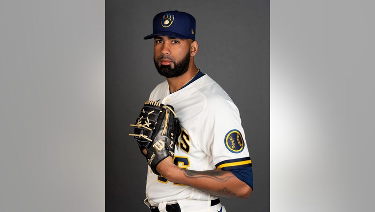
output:
[[[147,211],[147,164],[128,133],[151,90],[165,78],[153,64],[155,14],[196,19],[195,61],[240,110],[253,162],[249,199],[221,198],[229,212],[269,211],[269,1],[106,1],[106,211]]]

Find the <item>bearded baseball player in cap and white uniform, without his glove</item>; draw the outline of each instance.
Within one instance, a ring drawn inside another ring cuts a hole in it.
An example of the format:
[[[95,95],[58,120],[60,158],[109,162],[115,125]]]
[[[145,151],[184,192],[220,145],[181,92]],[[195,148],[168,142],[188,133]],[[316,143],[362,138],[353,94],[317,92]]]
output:
[[[151,212],[225,212],[218,197],[247,198],[251,160],[238,108],[194,63],[195,19],[167,11],[153,20],[154,62],[166,77],[150,100],[174,107],[181,133],[174,157],[148,168],[145,203]],[[146,150],[143,151],[146,154]]]

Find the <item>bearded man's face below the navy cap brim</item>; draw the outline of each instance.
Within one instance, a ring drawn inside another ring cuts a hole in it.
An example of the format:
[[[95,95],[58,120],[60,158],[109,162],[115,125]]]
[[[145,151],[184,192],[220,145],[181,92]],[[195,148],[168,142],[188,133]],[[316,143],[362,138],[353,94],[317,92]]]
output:
[[[159,74],[166,78],[183,75],[188,71],[191,40],[156,36],[154,63]]]

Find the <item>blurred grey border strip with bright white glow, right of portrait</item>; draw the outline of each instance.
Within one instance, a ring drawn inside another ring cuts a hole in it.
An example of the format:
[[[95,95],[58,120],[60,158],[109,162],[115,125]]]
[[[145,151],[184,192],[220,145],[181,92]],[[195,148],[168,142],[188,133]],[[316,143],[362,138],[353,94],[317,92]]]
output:
[[[272,212],[371,211],[374,2],[270,2]]]

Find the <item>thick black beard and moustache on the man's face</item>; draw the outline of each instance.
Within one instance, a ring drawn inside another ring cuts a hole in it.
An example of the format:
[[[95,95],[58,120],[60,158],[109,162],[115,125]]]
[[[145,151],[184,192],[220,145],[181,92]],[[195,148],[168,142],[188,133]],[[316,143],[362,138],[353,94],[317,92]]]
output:
[[[161,59],[171,60],[171,58],[169,58],[168,56],[162,56],[158,59],[158,61],[160,61]],[[155,67],[161,76],[164,76],[166,78],[179,77],[188,71],[190,63],[190,52],[188,52],[184,59],[182,59],[179,63],[176,63],[174,60],[171,60],[174,64],[173,69],[171,68],[171,65],[161,65],[159,67],[158,61],[154,59]]]

